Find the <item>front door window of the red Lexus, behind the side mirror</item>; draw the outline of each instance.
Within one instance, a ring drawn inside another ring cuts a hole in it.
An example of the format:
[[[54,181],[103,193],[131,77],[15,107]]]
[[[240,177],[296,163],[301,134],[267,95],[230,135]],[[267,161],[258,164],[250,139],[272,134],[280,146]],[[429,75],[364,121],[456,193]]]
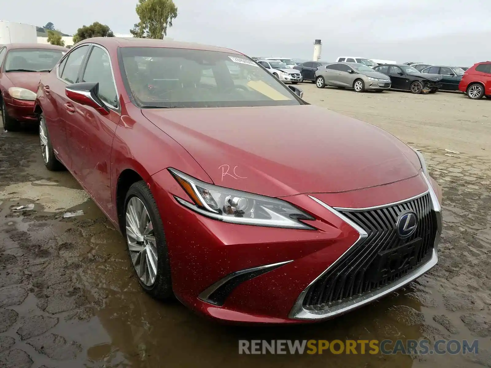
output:
[[[100,99],[111,106],[117,106],[118,96],[109,61],[108,53],[94,46],[87,60],[82,82],[98,82]]]

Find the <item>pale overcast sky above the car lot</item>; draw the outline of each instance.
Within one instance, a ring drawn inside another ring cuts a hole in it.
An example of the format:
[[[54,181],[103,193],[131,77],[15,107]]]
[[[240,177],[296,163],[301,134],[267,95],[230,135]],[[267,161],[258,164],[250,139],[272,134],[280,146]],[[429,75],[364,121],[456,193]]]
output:
[[[322,60],[354,55],[397,62],[472,65],[491,59],[490,0],[174,0],[167,36],[250,56]],[[129,33],[137,0],[3,1],[0,19],[73,34],[95,21]],[[27,7],[26,7],[27,5]]]

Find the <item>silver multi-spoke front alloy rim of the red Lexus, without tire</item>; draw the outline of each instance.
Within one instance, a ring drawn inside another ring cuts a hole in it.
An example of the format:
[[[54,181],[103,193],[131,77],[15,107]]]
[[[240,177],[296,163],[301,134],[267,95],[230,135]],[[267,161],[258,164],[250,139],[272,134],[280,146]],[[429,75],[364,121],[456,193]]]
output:
[[[157,278],[157,243],[152,221],[143,202],[132,197],[126,207],[126,241],[136,274],[146,286]]]

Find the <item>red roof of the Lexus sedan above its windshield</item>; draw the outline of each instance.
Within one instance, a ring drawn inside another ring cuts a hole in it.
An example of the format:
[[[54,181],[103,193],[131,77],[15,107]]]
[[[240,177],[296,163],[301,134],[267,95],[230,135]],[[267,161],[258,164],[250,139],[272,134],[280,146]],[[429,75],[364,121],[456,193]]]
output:
[[[87,38],[76,44],[78,46],[82,43],[96,43],[106,48],[113,47],[164,47],[170,49],[190,49],[190,50],[203,50],[203,51],[217,51],[221,53],[236,53],[244,55],[238,51],[227,49],[219,46],[202,45],[192,42],[180,42],[173,40],[158,40],[153,38],[136,38],[136,37],[92,37]],[[245,56],[245,55],[244,55]]]

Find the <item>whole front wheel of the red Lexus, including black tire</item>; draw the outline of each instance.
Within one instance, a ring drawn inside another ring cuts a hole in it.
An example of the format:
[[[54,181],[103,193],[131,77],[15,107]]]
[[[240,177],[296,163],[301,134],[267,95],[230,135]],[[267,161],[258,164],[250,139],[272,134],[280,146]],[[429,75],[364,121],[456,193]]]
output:
[[[137,222],[139,225],[141,214],[144,213],[144,210],[146,210],[148,214],[144,221],[149,221],[149,226],[146,228],[151,228],[147,234],[140,230],[143,226],[138,226],[138,229],[136,229],[135,226],[132,227],[129,225],[129,221],[132,219],[132,213],[136,213],[136,216],[133,217],[138,218]],[[124,221],[123,235],[126,238],[128,255],[130,256],[130,262],[135,270],[138,283],[145,292],[155,299],[170,299],[173,296],[173,292],[164,226],[155,199],[150,192],[148,185],[144,181],[136,182],[130,186],[128,193],[126,193]],[[130,231],[128,231],[128,228],[130,228]],[[135,233],[135,229],[138,231],[138,235],[142,236],[142,241],[133,241],[135,238],[130,233]],[[130,250],[130,241],[134,244],[132,250]],[[140,251],[136,251],[137,249]],[[145,269],[144,273],[137,270],[137,267],[139,269],[141,265],[138,261],[141,261],[142,256],[144,256],[146,266],[143,267]],[[157,257],[157,264],[155,267],[156,274],[152,280],[150,268],[152,269],[152,272],[155,271],[155,269],[151,265],[149,266],[146,260],[148,257],[151,257],[155,262],[155,256]]]

